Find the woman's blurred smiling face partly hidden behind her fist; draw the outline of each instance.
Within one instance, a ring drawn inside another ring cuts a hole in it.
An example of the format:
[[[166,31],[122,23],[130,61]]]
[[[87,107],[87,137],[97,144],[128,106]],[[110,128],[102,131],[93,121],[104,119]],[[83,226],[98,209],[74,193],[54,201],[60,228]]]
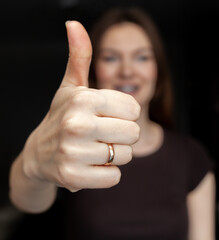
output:
[[[141,106],[148,105],[155,90],[157,64],[144,30],[129,22],[110,27],[101,39],[95,71],[98,88],[130,94]]]

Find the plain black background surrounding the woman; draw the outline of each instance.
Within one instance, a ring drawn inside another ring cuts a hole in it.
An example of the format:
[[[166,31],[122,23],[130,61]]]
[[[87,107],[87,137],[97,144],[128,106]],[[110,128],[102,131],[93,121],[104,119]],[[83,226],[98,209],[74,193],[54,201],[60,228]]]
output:
[[[47,232],[58,239],[58,204],[34,217],[11,206],[9,167],[47,112],[64,75],[68,56],[65,21],[79,20],[89,31],[104,10],[126,5],[144,8],[157,23],[172,69],[177,128],[205,145],[215,160],[218,182],[217,0],[1,0],[0,240],[38,239]],[[31,237],[30,231],[34,231]]]

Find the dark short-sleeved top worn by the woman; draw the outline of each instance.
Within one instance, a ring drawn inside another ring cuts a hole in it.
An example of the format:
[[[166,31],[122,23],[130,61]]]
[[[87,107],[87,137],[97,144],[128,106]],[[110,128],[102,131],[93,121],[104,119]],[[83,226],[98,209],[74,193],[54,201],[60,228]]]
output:
[[[165,130],[158,151],[120,169],[110,189],[63,190],[63,239],[187,239],[186,196],[212,170],[200,144]]]

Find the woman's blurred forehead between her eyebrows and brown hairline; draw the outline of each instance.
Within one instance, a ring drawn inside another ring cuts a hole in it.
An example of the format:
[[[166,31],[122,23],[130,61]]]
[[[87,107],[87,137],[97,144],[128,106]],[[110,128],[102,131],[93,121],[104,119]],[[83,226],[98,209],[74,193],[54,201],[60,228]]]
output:
[[[151,47],[151,42],[142,27],[135,23],[124,22],[113,25],[106,30],[101,39],[100,47],[131,50],[138,47]]]

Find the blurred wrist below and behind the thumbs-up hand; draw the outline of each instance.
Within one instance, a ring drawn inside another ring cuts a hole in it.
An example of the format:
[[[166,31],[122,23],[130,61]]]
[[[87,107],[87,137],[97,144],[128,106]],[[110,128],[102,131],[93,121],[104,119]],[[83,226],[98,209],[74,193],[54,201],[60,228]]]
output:
[[[29,177],[23,166],[23,152],[17,157],[10,171],[10,199],[20,210],[39,213],[55,201],[57,187],[49,182]]]

